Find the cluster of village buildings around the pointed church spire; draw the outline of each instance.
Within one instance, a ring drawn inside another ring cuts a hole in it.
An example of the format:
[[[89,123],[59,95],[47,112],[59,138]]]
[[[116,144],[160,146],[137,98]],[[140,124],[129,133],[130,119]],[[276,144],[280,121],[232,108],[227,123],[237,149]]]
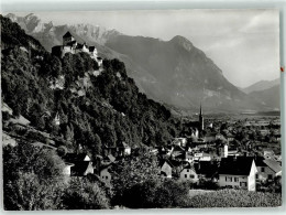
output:
[[[233,147],[232,133],[206,131],[201,107],[199,121],[193,126],[196,132],[190,138],[176,138],[170,146],[151,150],[161,159],[162,176],[255,191],[256,182],[272,182],[282,175],[280,162],[272,150],[251,154]]]

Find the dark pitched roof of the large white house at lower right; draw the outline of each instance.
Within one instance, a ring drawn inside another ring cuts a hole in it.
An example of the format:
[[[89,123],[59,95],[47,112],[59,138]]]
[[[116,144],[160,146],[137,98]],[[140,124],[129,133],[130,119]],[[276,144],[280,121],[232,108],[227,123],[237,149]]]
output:
[[[222,158],[219,174],[249,175],[253,160],[253,157]]]

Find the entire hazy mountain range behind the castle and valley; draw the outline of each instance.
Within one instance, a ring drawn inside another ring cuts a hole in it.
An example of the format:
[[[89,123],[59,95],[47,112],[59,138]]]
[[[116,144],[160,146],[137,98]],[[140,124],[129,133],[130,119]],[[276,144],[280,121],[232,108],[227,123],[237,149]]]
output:
[[[162,41],[124,35],[91,24],[43,23],[32,13],[26,17],[10,13],[7,17],[50,52],[52,46],[62,44],[62,36],[70,31],[79,42],[95,45],[100,56],[124,62],[128,75],[135,80],[139,89],[169,107],[190,112],[198,111],[201,103],[205,111],[277,108],[263,100],[263,93],[255,99],[255,94],[248,95],[255,87],[241,90],[232,85],[223,72],[184,36]],[[279,96],[276,97],[279,99]]]

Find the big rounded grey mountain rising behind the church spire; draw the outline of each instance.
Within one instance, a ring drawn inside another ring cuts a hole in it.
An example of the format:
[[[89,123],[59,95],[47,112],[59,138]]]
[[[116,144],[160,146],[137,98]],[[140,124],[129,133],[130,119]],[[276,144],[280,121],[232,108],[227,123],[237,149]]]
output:
[[[136,80],[155,99],[194,110],[200,101],[211,111],[256,108],[202,51],[183,36],[161,41],[118,35],[106,46],[130,56],[143,68]]]

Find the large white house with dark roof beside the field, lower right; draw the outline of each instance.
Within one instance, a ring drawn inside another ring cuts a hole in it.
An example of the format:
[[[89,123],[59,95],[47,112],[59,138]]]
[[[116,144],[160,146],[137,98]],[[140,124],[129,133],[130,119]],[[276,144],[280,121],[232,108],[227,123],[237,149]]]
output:
[[[256,190],[257,169],[252,157],[222,158],[219,166],[219,185]]]

